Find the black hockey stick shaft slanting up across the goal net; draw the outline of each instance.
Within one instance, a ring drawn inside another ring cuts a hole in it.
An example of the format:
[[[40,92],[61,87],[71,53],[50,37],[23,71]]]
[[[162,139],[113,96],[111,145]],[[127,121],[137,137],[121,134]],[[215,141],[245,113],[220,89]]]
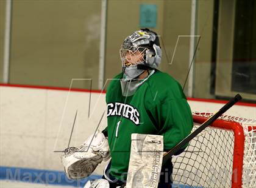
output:
[[[211,116],[209,119],[207,119],[200,127],[198,127],[196,130],[194,130],[194,132],[190,133],[190,135],[188,135],[186,138],[184,138],[182,141],[180,141],[179,144],[177,144],[171,150],[169,150],[169,152],[167,152],[163,156],[163,164],[165,164],[166,161],[168,161],[168,159],[170,159],[172,157],[172,155],[174,155],[176,152],[178,152],[183,146],[185,146],[185,144],[187,144],[189,141],[191,141],[191,139],[193,139],[195,136],[197,136],[199,133],[201,133],[202,130],[204,130],[206,127],[210,126],[210,124],[212,124],[213,121],[218,119],[219,116],[221,116],[223,113],[225,113],[227,110],[229,110],[230,107],[232,107],[236,102],[240,101],[241,99],[242,99],[241,95],[236,94],[236,96],[234,98],[230,99],[230,101],[227,102],[227,104],[225,104],[221,109],[219,109],[218,112],[216,112],[213,116]]]

